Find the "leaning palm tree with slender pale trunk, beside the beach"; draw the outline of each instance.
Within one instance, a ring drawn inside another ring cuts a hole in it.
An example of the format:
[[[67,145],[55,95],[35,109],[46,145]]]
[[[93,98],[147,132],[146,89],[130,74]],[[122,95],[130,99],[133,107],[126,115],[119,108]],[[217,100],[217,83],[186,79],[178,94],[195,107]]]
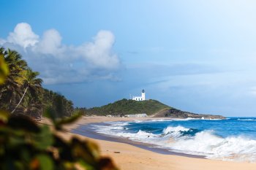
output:
[[[15,112],[15,110],[17,109],[17,107],[20,105],[20,102],[23,100],[27,90],[29,90],[31,92],[31,94],[36,93],[37,90],[41,89],[42,86],[42,79],[37,78],[37,76],[39,75],[39,72],[33,72],[31,69],[27,69],[26,70],[26,74],[24,77],[24,87],[25,91],[23,93],[23,95],[20,98],[20,101],[18,102],[18,104],[16,105],[16,107],[12,110],[11,113]]]

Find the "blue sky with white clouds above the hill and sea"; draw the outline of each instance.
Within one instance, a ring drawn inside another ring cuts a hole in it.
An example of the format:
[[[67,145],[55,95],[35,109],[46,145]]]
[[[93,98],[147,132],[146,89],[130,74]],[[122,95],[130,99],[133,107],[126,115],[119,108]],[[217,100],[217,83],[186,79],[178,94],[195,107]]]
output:
[[[0,46],[75,107],[156,99],[256,116],[256,2],[0,1]]]

